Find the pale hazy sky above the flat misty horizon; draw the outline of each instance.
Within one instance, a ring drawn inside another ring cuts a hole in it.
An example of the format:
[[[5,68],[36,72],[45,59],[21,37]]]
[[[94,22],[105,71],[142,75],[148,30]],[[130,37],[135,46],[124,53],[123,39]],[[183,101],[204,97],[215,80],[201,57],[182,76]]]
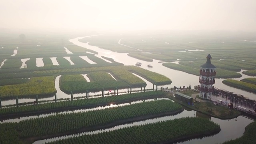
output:
[[[256,0],[0,0],[0,28],[256,31]]]

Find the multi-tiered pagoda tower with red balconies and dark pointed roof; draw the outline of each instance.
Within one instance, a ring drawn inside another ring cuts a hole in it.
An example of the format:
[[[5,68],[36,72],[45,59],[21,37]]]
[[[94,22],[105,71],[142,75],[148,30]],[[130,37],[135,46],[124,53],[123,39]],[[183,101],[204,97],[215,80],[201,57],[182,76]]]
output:
[[[201,77],[199,78],[200,85],[198,85],[198,90],[200,91],[200,98],[210,99],[214,91],[214,86],[212,85],[215,83],[216,67],[211,64],[212,56],[210,54],[206,58],[206,63],[200,66]]]

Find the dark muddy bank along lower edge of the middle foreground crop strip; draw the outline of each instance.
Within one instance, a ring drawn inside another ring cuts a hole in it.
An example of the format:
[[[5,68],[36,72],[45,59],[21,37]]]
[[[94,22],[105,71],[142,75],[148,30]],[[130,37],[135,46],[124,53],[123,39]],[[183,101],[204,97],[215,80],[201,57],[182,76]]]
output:
[[[87,127],[87,128],[82,128],[82,129],[69,131],[69,132],[64,132],[64,133],[60,133],[60,134],[52,134],[52,135],[48,135],[48,136],[38,136],[38,137],[33,137],[33,138],[26,138],[26,139],[23,139],[23,140],[32,143],[36,140],[43,140],[43,139],[47,139],[47,138],[66,136],[66,135],[77,134],[77,133],[81,133],[81,132],[88,132],[88,131],[106,129],[106,128],[111,128],[111,127],[126,124],[126,123],[137,122],[137,121],[141,121],[141,120],[157,118],[157,117],[162,117],[162,116],[174,115],[174,114],[178,114],[178,113],[182,112],[183,110],[184,109],[181,108],[180,110],[176,110],[174,112],[163,112],[163,113],[158,113],[158,114],[150,114],[150,115],[146,115],[146,116],[139,116],[139,117],[135,117],[135,118],[129,118],[129,119],[126,119],[126,120],[117,120],[117,121],[114,121],[114,122],[111,122],[111,123],[108,123],[108,124],[104,124],[104,125],[90,126],[90,127]]]

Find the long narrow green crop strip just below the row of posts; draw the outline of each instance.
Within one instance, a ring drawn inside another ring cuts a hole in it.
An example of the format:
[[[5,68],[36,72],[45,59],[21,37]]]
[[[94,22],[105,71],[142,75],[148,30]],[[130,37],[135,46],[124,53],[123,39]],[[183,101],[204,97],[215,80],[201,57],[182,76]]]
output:
[[[81,99],[81,100],[72,100],[72,101],[60,101],[54,103],[45,103],[38,105],[28,105],[28,106],[19,106],[10,107],[10,108],[2,108],[0,109],[0,116],[4,114],[20,114],[20,113],[29,113],[29,112],[37,112],[37,111],[50,111],[61,108],[77,108],[77,107],[86,107],[86,106],[96,106],[96,105],[108,105],[109,103],[115,102],[125,102],[136,99],[148,99],[148,98],[157,98],[164,96],[165,93],[163,91],[150,91],[150,92],[140,92],[140,93],[132,93],[132,94],[122,94],[118,96],[107,96],[100,98],[89,98],[89,99]]]

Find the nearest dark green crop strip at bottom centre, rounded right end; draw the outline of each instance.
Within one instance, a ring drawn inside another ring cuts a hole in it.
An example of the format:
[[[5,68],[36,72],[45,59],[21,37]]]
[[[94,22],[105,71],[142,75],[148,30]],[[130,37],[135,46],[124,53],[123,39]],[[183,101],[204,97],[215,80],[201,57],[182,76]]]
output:
[[[220,131],[220,126],[207,119],[202,118],[180,118],[146,124],[142,126],[133,126],[102,132],[98,134],[83,135],[47,144],[105,144],[105,143],[125,143],[125,144],[148,144],[148,143],[172,143],[177,139],[184,139],[186,136],[200,135],[206,132],[216,133]]]

